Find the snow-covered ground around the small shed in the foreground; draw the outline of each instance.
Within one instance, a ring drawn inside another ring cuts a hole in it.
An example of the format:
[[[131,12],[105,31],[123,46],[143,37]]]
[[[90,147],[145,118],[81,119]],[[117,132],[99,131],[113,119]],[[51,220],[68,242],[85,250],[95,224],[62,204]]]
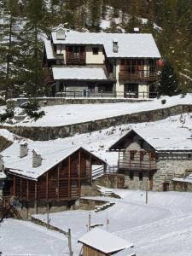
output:
[[[114,192],[123,199],[108,198],[115,205],[103,212],[91,212],[91,224],[102,223],[106,229],[108,211],[109,232],[131,241],[137,256],[191,256],[190,193],[149,192],[146,205],[144,192],[121,189],[114,189]],[[81,246],[77,240],[87,231],[88,215],[88,211],[49,215],[50,224],[62,230],[72,229],[74,255],[79,255]],[[38,218],[46,222],[46,215],[38,215]],[[67,253],[65,236],[25,221],[5,220],[0,227],[0,236],[1,251],[9,255],[59,256]]]

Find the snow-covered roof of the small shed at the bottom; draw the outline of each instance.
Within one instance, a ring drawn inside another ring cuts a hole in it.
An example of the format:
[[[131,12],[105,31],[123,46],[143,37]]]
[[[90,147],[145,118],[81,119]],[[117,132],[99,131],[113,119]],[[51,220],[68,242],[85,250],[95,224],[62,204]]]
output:
[[[90,230],[90,232],[79,238],[79,242],[102,253],[113,253],[132,247],[129,241],[99,228]]]

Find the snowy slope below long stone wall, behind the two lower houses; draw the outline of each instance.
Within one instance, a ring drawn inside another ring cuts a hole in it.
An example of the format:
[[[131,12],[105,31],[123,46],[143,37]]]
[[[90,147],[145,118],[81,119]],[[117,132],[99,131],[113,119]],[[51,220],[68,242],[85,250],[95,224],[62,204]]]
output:
[[[161,134],[162,139],[166,139],[167,143],[171,140],[168,140],[168,137],[172,137],[172,132],[174,131],[174,137],[177,142],[178,148],[180,144],[183,145],[183,137],[181,137],[181,132],[183,129],[189,130],[188,141],[190,138],[190,131],[192,130],[192,117],[191,113],[183,113],[181,115],[176,115],[163,119],[157,122],[142,123],[142,124],[131,124],[131,125],[118,125],[113,126],[108,129],[101,131],[94,131],[84,134],[76,134],[73,137],[59,138],[52,141],[39,142],[32,141],[29,139],[20,139],[20,137],[14,136],[9,131],[0,129],[0,136],[7,137],[9,140],[14,141],[14,144],[3,151],[3,156],[6,164],[7,156],[12,156],[12,161],[15,161],[15,157],[18,157],[20,142],[25,141],[28,143],[29,150],[32,149],[38,150],[43,157],[43,165],[48,155],[55,155],[57,152],[64,152],[69,148],[78,148],[83,147],[89,150],[91,153],[96,154],[98,157],[106,160],[110,166],[116,166],[118,161],[117,152],[108,152],[108,148],[117,142],[120,137],[123,137],[125,133],[131,129],[146,128],[151,139],[156,138],[157,134]],[[183,128],[183,129],[181,129]],[[150,134],[151,132],[151,134]],[[181,138],[180,138],[181,137]],[[180,139],[179,139],[180,138]],[[184,137],[185,138],[185,137]],[[157,140],[158,141],[158,140]],[[179,144],[180,142],[180,144]],[[188,143],[189,145],[189,143]],[[187,144],[186,144],[187,146]],[[57,154],[56,154],[57,155]],[[8,159],[9,160],[9,159]],[[28,169],[29,166],[26,166]]]

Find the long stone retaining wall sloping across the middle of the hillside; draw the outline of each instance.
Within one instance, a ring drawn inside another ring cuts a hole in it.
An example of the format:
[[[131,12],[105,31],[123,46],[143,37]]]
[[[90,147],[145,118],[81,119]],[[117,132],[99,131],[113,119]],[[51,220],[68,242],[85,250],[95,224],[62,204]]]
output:
[[[73,125],[49,126],[49,127],[25,127],[25,126],[0,126],[21,137],[32,140],[46,141],[58,137],[70,137],[76,133],[100,131],[114,125],[131,124],[157,121],[166,119],[171,115],[192,112],[192,105],[177,105],[171,108],[155,109],[140,113],[119,115],[107,119],[98,119]]]

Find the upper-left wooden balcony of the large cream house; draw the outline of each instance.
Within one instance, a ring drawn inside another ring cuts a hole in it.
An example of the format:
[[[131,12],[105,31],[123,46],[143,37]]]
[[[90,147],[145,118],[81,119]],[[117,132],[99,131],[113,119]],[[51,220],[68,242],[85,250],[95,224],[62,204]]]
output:
[[[86,63],[86,53],[79,52],[78,54],[74,54],[73,52],[67,52],[66,55],[66,63],[67,65],[85,65]]]

